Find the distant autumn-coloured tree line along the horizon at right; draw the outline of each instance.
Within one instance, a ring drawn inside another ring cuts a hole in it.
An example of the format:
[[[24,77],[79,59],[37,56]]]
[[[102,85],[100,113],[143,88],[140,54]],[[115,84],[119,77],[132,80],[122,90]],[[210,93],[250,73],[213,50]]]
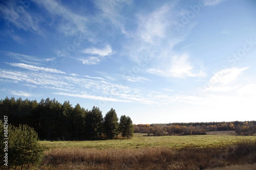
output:
[[[170,124],[139,124],[134,125],[135,133],[148,133],[148,136],[163,135],[205,135],[206,132],[235,130],[238,135],[256,133],[256,121],[234,122],[192,122]]]

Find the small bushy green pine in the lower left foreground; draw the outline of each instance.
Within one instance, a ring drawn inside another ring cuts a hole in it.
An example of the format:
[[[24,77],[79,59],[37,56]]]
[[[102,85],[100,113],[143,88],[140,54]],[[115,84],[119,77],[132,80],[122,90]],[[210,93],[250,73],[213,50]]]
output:
[[[44,147],[38,142],[38,134],[28,125],[14,127],[9,125],[9,150],[10,166],[40,164],[44,158]]]

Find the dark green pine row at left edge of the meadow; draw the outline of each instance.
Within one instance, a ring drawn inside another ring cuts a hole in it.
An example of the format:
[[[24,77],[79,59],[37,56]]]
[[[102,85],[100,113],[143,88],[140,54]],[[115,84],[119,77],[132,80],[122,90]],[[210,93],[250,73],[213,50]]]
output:
[[[28,125],[46,140],[98,140],[115,139],[119,135],[131,139],[134,126],[129,116],[120,116],[111,108],[105,117],[99,107],[91,110],[69,101],[63,104],[56,99],[36,100],[14,97],[0,100],[0,116],[8,116],[9,123],[18,127]]]

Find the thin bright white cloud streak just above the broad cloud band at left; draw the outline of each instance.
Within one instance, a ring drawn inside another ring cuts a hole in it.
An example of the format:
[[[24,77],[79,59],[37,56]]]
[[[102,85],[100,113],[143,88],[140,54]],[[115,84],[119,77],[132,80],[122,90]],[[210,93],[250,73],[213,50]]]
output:
[[[32,71],[44,71],[44,72],[51,72],[51,73],[66,74],[65,72],[59,71],[55,68],[44,68],[44,67],[38,67],[38,66],[34,66],[34,65],[27,65],[27,64],[23,64],[23,63],[8,63],[8,64],[13,67],[25,68],[25,69],[32,70]]]

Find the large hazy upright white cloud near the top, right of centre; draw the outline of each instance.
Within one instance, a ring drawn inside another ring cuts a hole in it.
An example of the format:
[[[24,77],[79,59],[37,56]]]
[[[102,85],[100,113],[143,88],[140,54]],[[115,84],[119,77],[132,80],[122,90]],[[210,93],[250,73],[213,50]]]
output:
[[[137,29],[131,33],[132,41],[124,54],[136,63],[147,58],[147,67],[173,55],[173,47],[185,40],[172,28],[177,13],[172,4],[166,4],[151,13],[137,14]]]

